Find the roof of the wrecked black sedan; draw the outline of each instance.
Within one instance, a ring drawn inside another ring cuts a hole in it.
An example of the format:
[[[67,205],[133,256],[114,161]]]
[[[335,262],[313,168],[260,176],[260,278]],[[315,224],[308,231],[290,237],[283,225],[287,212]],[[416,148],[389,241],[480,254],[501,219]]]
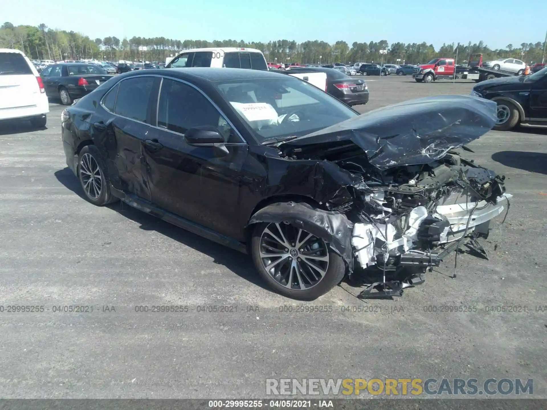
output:
[[[252,70],[248,68],[220,68],[220,67],[187,67],[187,68],[157,68],[149,69],[146,74],[169,75],[180,79],[206,79],[208,81],[248,80],[256,78],[279,78],[280,75],[266,70]],[[124,74],[127,77],[143,75],[142,72],[132,71]]]

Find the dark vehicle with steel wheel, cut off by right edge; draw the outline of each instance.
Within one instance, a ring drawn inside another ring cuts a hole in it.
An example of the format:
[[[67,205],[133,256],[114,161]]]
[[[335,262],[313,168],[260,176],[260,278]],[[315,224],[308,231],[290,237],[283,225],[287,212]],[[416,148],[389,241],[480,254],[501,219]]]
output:
[[[530,75],[481,81],[471,93],[498,104],[494,130],[511,130],[517,124],[547,128],[547,67]]]

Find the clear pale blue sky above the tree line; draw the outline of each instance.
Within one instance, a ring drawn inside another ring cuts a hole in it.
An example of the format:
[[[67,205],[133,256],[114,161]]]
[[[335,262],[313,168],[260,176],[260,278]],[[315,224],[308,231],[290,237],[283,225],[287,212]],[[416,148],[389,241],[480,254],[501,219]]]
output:
[[[545,0],[3,0],[2,22],[81,32],[91,38],[345,40],[389,44],[478,43],[492,49],[543,42]],[[485,10],[485,11],[480,11]],[[1,24],[1,23],[0,23]]]

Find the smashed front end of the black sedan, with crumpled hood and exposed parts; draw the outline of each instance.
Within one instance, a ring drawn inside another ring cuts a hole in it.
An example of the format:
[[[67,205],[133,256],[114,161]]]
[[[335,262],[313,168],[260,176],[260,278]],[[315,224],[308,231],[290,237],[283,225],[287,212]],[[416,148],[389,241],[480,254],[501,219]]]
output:
[[[486,255],[477,239],[487,237],[511,195],[504,177],[462,158],[459,149],[469,150],[465,144],[496,121],[491,101],[430,97],[281,143],[288,160],[327,161],[348,175],[324,202],[328,212],[304,217],[310,210],[293,204],[284,213],[309,232],[315,226],[350,273],[358,266],[375,272],[359,297],[400,296],[464,243]]]

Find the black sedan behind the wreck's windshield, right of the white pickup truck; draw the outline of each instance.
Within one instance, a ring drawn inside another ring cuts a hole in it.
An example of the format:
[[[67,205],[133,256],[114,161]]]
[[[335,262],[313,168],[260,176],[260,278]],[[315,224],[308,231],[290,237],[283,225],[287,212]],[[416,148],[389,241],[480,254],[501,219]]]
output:
[[[357,80],[334,69],[322,67],[292,68],[290,72],[296,73],[327,73],[327,92],[338,98],[348,106],[366,104],[369,101],[369,89],[365,81]]]

